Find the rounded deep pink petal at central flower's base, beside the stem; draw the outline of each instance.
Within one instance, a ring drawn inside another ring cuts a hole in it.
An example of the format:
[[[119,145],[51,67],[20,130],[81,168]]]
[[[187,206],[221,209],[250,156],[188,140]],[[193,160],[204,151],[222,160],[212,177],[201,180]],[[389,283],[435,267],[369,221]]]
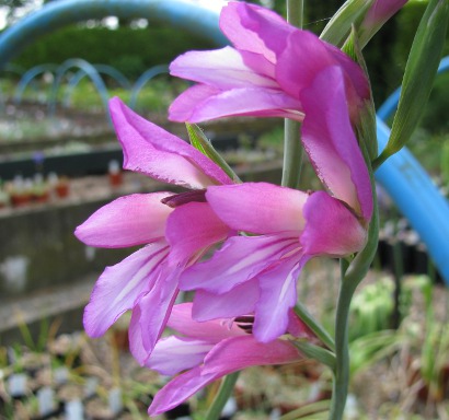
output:
[[[306,229],[300,242],[307,255],[343,257],[361,250],[367,232],[342,201],[313,192],[304,206]]]

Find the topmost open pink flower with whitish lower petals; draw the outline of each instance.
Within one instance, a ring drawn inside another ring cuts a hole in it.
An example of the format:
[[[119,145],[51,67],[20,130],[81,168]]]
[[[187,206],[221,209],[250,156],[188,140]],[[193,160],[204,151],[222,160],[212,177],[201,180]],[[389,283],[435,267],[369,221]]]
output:
[[[233,115],[302,120],[301,92],[330,66],[343,71],[353,117],[360,101],[369,97],[358,65],[269,10],[231,1],[222,9],[220,27],[233,48],[186,52],[170,66],[171,74],[198,82],[174,101],[172,120],[198,122]]]

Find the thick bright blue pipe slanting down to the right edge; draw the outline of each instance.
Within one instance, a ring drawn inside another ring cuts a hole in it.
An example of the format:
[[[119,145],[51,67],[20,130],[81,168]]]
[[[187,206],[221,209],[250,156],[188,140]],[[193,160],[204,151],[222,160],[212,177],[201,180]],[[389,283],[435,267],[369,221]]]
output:
[[[382,150],[390,137],[389,127],[378,118],[378,141]],[[426,244],[427,250],[449,285],[449,202],[406,149],[393,154],[376,172],[401,212]]]

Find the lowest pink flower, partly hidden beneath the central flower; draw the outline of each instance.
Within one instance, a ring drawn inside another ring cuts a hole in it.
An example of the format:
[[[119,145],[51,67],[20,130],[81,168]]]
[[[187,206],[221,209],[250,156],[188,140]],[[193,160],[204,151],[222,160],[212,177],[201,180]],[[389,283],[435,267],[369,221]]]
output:
[[[247,366],[293,363],[303,357],[288,339],[262,343],[251,334],[253,316],[196,323],[192,304],[175,305],[168,326],[182,336],[162,338],[147,362],[164,375],[175,375],[156,395],[148,412],[156,416],[176,407],[207,384]],[[288,332],[314,338],[302,322],[289,313]]]

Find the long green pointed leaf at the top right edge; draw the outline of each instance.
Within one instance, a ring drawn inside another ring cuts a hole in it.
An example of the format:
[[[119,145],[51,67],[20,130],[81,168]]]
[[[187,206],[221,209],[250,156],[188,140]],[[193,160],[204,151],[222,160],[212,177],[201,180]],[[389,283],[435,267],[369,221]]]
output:
[[[408,55],[390,139],[381,155],[373,162],[375,167],[399,152],[418,125],[437,74],[448,16],[448,0],[429,1]]]

